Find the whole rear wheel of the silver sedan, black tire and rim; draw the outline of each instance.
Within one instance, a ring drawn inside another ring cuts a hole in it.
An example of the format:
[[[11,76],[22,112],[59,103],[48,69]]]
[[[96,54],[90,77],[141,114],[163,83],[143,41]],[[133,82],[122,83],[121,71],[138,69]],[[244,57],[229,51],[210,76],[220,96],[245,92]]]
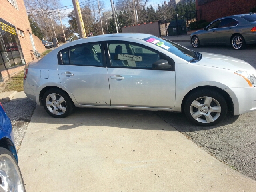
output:
[[[55,94],[55,101],[53,100],[54,98],[52,99],[52,96],[54,95],[50,96],[50,94]],[[61,97],[64,98],[64,101],[60,100]],[[52,102],[52,104],[48,104],[47,106],[46,102]],[[74,103],[72,102],[68,94],[58,88],[51,88],[44,93],[43,106],[46,112],[54,118],[65,118],[66,116],[69,116],[75,108]]]

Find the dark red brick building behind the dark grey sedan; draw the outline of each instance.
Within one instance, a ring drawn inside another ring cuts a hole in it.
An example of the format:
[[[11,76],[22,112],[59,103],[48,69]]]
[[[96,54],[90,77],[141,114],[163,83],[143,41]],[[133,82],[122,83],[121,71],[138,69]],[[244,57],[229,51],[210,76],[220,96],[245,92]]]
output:
[[[211,22],[217,18],[249,13],[256,0],[196,0],[198,20]]]

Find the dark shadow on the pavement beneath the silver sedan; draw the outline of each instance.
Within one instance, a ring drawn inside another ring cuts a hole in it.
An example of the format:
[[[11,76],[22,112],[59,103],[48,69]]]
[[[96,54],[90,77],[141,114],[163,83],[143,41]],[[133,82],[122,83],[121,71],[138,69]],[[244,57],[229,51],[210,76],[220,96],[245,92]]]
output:
[[[51,128],[56,127],[58,130],[68,130],[79,126],[109,126],[126,129],[144,129],[144,130],[176,130],[181,132],[191,132],[198,130],[209,130],[216,127],[232,124],[238,116],[227,114],[226,118],[211,127],[200,127],[190,122],[182,113],[174,112],[154,112],[142,110],[117,110],[103,108],[76,108],[76,110],[68,117],[56,119],[46,113],[43,107],[37,106],[34,112],[32,122],[40,122],[42,126],[38,129],[44,129],[44,126]],[[162,120],[170,126],[162,124]]]

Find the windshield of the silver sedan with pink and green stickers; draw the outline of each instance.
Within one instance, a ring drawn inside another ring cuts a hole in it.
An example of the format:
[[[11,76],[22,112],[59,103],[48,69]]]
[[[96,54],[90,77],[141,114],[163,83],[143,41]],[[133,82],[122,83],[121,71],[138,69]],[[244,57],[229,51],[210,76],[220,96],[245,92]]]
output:
[[[192,52],[191,50],[182,47],[174,42],[171,42],[167,39],[156,37],[156,36],[150,36],[148,38],[143,39],[146,42],[150,42],[156,46],[159,46],[160,48],[167,50],[168,52],[190,62],[191,60],[194,60],[194,58],[197,58],[196,54]]]

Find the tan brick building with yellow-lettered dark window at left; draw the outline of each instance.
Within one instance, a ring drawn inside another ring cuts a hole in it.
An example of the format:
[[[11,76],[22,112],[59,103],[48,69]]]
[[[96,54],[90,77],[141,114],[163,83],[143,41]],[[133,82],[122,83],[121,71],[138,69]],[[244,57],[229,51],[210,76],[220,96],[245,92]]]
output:
[[[32,34],[23,0],[1,0],[0,4],[0,81],[24,69],[33,60],[30,50],[45,51]]]

